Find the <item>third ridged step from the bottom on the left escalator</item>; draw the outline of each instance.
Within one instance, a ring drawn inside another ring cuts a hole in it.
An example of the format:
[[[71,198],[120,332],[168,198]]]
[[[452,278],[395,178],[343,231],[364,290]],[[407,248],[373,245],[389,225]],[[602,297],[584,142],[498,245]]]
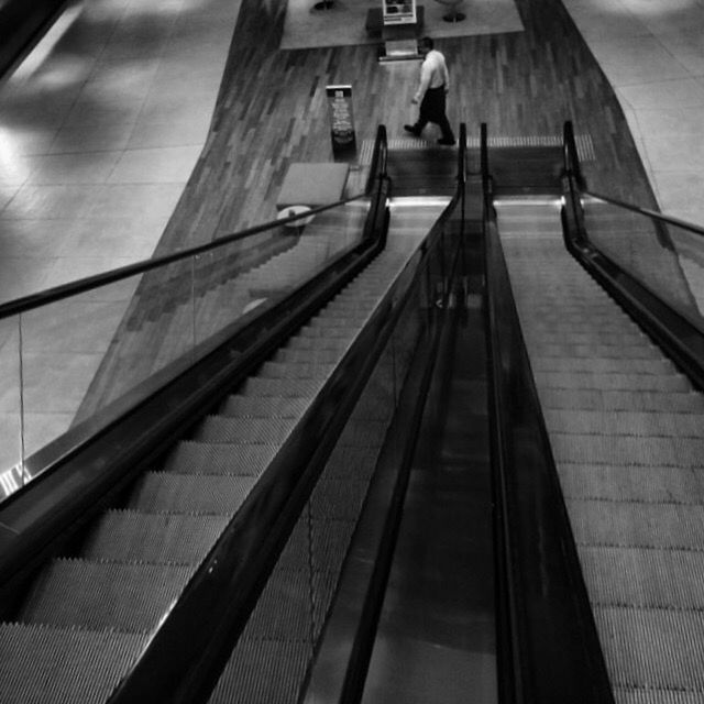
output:
[[[103,514],[82,547],[86,560],[199,564],[228,525],[222,516]]]

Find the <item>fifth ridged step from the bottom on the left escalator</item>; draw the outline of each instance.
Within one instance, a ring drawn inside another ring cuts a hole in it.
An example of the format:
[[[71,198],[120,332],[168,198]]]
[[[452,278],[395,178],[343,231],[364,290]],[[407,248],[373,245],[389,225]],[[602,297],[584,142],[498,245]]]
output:
[[[169,454],[163,470],[178,474],[239,474],[258,476],[276,454],[268,444],[212,444],[183,440]]]

